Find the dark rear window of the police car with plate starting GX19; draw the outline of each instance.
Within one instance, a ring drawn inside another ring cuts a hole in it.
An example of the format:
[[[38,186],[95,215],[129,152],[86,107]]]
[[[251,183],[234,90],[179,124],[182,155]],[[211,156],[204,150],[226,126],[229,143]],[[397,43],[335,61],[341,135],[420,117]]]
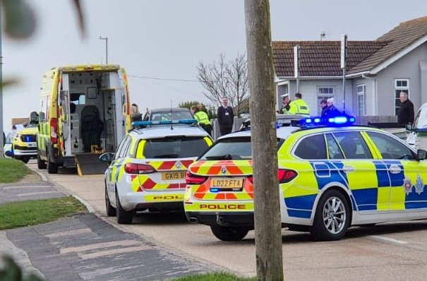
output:
[[[145,158],[186,158],[198,157],[208,149],[203,137],[176,136],[146,140]]]

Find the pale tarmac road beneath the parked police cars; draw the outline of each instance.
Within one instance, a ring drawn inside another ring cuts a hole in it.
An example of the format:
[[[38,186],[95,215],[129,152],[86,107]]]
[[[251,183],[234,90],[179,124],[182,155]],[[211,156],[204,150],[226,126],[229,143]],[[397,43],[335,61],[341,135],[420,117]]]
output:
[[[30,165],[35,169],[35,165]],[[253,232],[243,241],[217,240],[204,225],[191,225],[183,214],[143,213],[133,225],[117,225],[106,217],[102,175],[78,177],[61,171],[49,181],[83,198],[114,227],[137,234],[179,255],[240,275],[255,275]],[[426,280],[427,223],[401,222],[375,227],[353,227],[341,241],[315,242],[309,234],[283,229],[283,264],[286,280]]]

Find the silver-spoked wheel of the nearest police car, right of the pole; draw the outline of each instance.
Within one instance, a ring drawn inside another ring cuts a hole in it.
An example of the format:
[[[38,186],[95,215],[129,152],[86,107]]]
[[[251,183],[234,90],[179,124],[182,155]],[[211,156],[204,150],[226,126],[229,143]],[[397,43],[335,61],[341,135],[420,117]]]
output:
[[[316,240],[330,241],[344,237],[350,223],[347,199],[337,190],[326,191],[315,211],[311,235]]]

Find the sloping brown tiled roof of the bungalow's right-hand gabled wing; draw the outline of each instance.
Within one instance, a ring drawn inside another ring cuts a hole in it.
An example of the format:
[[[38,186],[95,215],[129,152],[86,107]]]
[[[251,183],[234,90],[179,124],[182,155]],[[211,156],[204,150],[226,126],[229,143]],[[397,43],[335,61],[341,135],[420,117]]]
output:
[[[383,49],[378,50],[372,56],[366,60],[361,61],[360,64],[351,68],[348,71],[351,73],[359,73],[362,71],[369,71],[378,64],[381,64],[386,59],[397,54],[402,49],[409,47],[419,38],[427,35],[427,16],[422,18],[416,18],[414,20],[408,20],[404,23],[400,23],[390,32],[378,38],[378,41],[389,41]]]

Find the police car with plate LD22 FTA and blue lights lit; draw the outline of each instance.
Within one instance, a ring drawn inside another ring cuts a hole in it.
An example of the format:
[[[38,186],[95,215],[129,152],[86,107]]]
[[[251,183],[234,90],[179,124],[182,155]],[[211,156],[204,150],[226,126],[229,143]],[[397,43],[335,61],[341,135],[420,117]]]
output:
[[[352,225],[427,218],[427,152],[353,117],[308,118],[277,128],[283,227],[318,240],[341,239]],[[253,229],[251,131],[219,138],[188,167],[184,208],[218,239]],[[267,219],[267,218],[265,218]]]

